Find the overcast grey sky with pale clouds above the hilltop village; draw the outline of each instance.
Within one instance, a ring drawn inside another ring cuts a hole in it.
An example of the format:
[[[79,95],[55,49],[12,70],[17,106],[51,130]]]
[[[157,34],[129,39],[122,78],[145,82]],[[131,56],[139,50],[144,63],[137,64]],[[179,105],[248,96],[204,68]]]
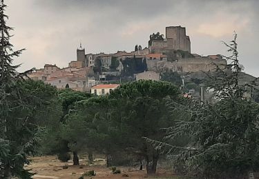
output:
[[[238,34],[244,71],[259,76],[259,1],[257,0],[6,0],[11,42],[26,51],[16,60],[20,71],[59,67],[76,60],[81,42],[86,53],[132,51],[147,46],[153,32],[182,25],[191,52],[227,55],[220,41]]]

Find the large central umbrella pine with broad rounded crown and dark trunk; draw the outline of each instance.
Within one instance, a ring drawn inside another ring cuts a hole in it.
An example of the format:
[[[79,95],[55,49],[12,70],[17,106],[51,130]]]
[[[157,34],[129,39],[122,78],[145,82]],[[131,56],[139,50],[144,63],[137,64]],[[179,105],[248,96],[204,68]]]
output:
[[[145,158],[148,173],[155,173],[160,152],[142,137],[163,140],[164,134],[160,129],[174,123],[165,110],[165,98],[180,101],[179,94],[178,87],[171,83],[135,81],[121,85],[109,96],[113,105],[112,143],[130,154]]]

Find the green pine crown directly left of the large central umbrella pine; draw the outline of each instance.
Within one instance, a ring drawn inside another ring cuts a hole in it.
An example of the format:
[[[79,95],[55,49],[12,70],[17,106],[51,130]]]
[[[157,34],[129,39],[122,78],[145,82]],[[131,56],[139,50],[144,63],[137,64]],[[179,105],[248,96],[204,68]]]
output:
[[[106,141],[108,106],[108,99],[99,96],[75,103],[75,110],[68,115],[62,130],[70,149],[102,151],[109,146]]]

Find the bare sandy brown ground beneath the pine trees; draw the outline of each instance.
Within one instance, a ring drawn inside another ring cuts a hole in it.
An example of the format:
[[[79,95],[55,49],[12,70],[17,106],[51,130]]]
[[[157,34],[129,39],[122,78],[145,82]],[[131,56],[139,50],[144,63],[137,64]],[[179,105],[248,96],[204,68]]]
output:
[[[155,176],[146,176],[146,170],[139,171],[129,167],[117,167],[122,173],[113,174],[111,169],[105,166],[105,160],[102,158],[96,158],[93,164],[88,165],[87,161],[79,160],[80,166],[73,166],[72,161],[60,162],[55,156],[43,156],[30,158],[32,164],[26,166],[26,169],[32,169],[37,173],[33,178],[52,178],[52,179],[78,179],[84,172],[94,170],[96,176],[92,178],[175,178],[173,173],[164,169],[157,169]],[[64,165],[68,165],[68,169],[63,169]],[[123,176],[126,173],[128,177]],[[90,177],[88,177],[90,178]],[[175,178],[176,179],[176,178]]]

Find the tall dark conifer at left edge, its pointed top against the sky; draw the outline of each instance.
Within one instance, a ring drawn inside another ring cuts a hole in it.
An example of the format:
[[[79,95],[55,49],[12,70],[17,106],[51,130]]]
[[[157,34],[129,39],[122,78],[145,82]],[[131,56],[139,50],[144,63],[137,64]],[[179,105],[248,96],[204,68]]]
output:
[[[19,65],[12,65],[14,57],[24,50],[12,50],[10,28],[6,25],[6,4],[0,1],[0,178],[31,178],[24,164],[29,164],[26,155],[34,151],[39,128],[32,123],[35,109],[41,103],[37,94],[28,94],[26,84],[17,73]],[[29,97],[29,96],[30,97]],[[29,100],[30,99],[30,100]]]

